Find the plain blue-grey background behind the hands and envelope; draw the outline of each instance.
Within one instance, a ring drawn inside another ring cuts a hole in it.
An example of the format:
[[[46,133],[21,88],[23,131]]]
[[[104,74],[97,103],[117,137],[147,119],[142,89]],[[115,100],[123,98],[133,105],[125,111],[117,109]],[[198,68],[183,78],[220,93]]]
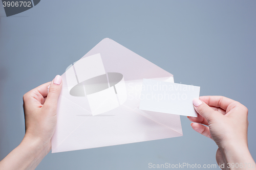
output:
[[[41,1],[6,17],[0,7],[0,159],[23,139],[23,95],[65,72],[109,37],[174,75],[249,109],[256,159],[256,1]],[[148,169],[216,164],[217,145],[181,116],[183,137],[49,153],[37,169]],[[185,168],[184,168],[185,169]]]

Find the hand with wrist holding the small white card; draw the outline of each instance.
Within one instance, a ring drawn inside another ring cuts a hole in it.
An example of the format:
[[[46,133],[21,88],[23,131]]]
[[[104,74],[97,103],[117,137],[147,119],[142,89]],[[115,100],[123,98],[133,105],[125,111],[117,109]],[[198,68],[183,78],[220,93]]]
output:
[[[193,100],[198,117],[189,117],[191,127],[218,145],[217,163],[222,169],[256,169],[248,149],[248,109],[224,96],[200,96]],[[232,163],[239,167],[232,167]],[[251,167],[248,167],[250,163]],[[252,168],[252,165],[254,165]]]

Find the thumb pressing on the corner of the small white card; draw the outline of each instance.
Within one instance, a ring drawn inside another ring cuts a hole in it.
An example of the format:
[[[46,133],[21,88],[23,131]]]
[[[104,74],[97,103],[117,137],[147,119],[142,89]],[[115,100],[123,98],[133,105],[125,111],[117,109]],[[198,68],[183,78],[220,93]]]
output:
[[[200,101],[199,99],[194,99],[193,105],[194,105],[195,110],[198,112],[198,114],[200,114],[202,117],[204,117],[208,123],[216,115],[221,114],[218,111],[215,111],[214,109],[210,108],[210,106],[208,106],[204,102]]]

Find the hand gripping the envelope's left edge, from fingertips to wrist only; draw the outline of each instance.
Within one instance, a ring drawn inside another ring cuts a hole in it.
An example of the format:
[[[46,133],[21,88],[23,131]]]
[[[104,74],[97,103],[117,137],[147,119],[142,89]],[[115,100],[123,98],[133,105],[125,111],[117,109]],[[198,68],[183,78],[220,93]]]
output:
[[[51,150],[51,138],[56,127],[57,102],[61,87],[61,76],[58,75],[52,82],[42,84],[23,96],[25,137],[41,141],[48,152]]]

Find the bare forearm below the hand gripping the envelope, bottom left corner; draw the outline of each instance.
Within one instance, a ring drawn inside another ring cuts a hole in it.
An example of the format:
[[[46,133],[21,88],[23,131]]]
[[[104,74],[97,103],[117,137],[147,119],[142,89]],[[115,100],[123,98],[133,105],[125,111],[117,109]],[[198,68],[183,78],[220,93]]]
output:
[[[0,162],[0,169],[35,169],[49,150],[49,146],[41,144],[39,139],[25,135],[18,147]]]

